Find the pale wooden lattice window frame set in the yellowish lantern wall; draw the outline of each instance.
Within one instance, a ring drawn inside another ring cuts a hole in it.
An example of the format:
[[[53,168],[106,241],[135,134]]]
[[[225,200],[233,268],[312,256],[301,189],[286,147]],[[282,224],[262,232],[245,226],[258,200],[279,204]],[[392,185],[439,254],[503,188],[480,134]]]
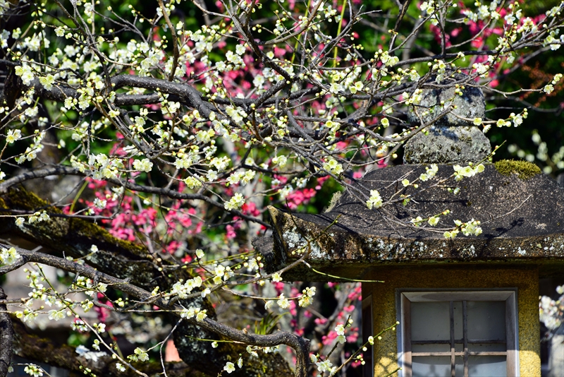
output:
[[[450,352],[443,355],[443,352],[428,352],[426,355],[418,353],[417,356],[450,356],[451,374],[454,376],[454,358],[461,356],[465,360],[465,376],[467,376],[467,358],[474,355],[468,351],[467,337],[464,335],[464,351],[455,352],[455,340],[453,334],[453,301],[505,301],[505,352],[478,352],[477,356],[503,355],[507,356],[507,375],[510,377],[519,376],[519,341],[517,323],[517,289],[507,290],[469,290],[469,291],[414,291],[410,289],[398,290],[398,364],[401,369],[401,377],[412,377],[412,351],[411,340],[411,302],[422,301],[450,301]],[[465,305],[463,305],[463,317],[465,317]],[[407,315],[409,314],[409,315]],[[466,322],[466,321],[464,321]],[[464,323],[464,333],[466,333]],[[479,340],[477,340],[479,341]],[[474,342],[474,341],[473,341]],[[425,342],[427,344],[429,342]],[[460,343],[460,342],[456,342]]]

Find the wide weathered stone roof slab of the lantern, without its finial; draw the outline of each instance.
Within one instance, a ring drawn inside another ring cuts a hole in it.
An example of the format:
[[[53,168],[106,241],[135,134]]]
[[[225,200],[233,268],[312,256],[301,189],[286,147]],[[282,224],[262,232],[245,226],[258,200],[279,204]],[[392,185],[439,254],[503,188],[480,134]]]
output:
[[[471,178],[454,181],[450,165],[440,165],[435,179],[404,188],[425,172],[422,165],[401,165],[370,172],[355,184],[361,192],[378,190],[384,201],[369,210],[366,198],[345,193],[329,213],[307,215],[271,209],[274,247],[271,270],[288,265],[308,252],[307,263],[331,275],[359,278],[365,268],[386,263],[516,263],[541,266],[541,275],[564,266],[564,190],[556,181],[537,174],[520,179],[518,172],[502,175],[493,165]],[[450,190],[449,190],[450,188]],[[460,193],[454,194],[453,188]],[[404,206],[401,195],[413,195]],[[426,222],[413,227],[420,216],[441,216],[436,227]],[[293,217],[293,218],[292,218]],[[454,220],[480,220],[483,233],[445,239]],[[332,222],[336,223],[329,227]],[[296,225],[298,225],[297,229]],[[329,227],[329,228],[328,228]],[[560,267],[558,267],[560,266]],[[544,271],[544,272],[543,272]],[[335,280],[314,273],[306,265],[286,273],[288,280]]]

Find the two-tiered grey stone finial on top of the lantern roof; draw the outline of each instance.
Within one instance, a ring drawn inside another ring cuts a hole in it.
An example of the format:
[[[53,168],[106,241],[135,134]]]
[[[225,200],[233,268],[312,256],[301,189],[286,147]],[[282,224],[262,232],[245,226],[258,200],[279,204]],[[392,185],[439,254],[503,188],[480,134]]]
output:
[[[450,105],[456,108],[407,141],[403,157],[405,164],[466,164],[484,160],[490,154],[488,138],[472,123],[474,118],[484,119],[485,116],[482,89],[466,84],[462,85],[465,86],[462,95],[455,92],[453,83],[466,77],[463,73],[455,73],[438,84],[450,85],[448,88],[423,90],[417,114],[411,110],[408,113],[412,123],[431,121]],[[429,83],[434,81],[434,78],[429,79]],[[444,104],[441,105],[441,102]]]

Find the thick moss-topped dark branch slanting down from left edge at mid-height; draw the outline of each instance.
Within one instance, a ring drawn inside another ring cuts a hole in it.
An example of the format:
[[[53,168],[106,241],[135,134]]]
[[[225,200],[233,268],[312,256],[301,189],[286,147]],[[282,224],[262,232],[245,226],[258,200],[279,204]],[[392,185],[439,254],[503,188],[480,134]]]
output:
[[[8,213],[45,210],[51,216],[49,221],[26,223],[23,227],[17,227],[12,217],[0,217],[0,227],[4,233],[17,234],[27,241],[46,246],[59,255],[64,253],[75,258],[85,257],[91,253],[92,245],[96,245],[99,251],[88,257],[88,263],[120,279],[130,278],[135,285],[145,288],[155,285],[164,287],[171,282],[190,278],[188,273],[180,269],[165,275],[159,268],[168,263],[158,261],[145,247],[118,239],[93,222],[65,217],[59,208],[49,205],[22,187],[10,188],[0,196],[0,209]]]

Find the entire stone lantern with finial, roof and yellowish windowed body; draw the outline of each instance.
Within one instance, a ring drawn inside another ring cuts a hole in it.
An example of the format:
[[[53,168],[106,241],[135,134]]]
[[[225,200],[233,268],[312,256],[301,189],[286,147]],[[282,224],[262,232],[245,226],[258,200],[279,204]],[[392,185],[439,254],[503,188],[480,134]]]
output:
[[[273,237],[255,241],[270,271],[307,254],[285,280],[382,281],[362,283],[363,336],[400,325],[364,353],[365,376],[541,375],[539,277],[564,267],[564,191],[534,164],[483,162],[484,96],[465,85],[424,90],[412,121],[456,106],[410,139],[405,164],[368,172],[321,215],[270,208]],[[384,204],[369,209],[374,190]]]

